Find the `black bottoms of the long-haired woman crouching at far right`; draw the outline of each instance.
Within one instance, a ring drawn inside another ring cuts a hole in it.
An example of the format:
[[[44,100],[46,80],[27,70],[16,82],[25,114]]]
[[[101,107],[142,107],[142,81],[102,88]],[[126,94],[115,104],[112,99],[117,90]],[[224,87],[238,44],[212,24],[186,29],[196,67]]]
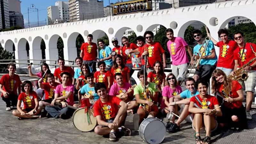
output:
[[[218,123],[227,123],[230,128],[247,128],[247,119],[245,108],[242,105],[240,108],[227,108],[224,105],[220,108],[222,116],[217,117]],[[237,116],[238,122],[233,122],[231,116]]]

